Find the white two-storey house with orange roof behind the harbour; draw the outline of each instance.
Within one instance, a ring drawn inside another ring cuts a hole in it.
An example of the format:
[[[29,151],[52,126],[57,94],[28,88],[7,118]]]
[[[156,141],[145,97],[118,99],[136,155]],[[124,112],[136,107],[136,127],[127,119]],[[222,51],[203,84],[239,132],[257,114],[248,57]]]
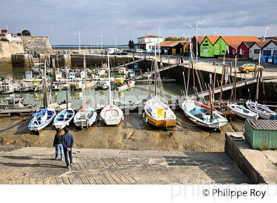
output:
[[[152,52],[152,48],[155,44],[163,42],[163,37],[155,35],[144,35],[138,38],[138,43],[135,44],[135,49],[142,49],[146,52]],[[157,50],[158,52],[158,50]]]

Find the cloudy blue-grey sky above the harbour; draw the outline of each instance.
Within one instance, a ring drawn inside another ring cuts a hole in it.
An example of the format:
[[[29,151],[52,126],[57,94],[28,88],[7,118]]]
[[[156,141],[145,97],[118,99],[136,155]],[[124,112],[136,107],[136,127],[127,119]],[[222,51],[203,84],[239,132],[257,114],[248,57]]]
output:
[[[1,0],[0,27],[48,36],[51,45],[126,45],[130,39],[198,35],[277,36],[276,0]]]

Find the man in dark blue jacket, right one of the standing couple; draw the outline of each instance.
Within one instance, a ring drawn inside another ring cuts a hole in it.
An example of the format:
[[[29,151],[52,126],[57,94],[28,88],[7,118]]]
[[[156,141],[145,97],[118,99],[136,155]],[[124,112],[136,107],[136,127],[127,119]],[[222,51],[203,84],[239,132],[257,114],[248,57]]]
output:
[[[68,127],[64,128],[64,135],[62,136],[62,146],[63,146],[63,152],[64,152],[64,159],[66,163],[66,167],[70,168],[70,166],[73,166],[73,161],[72,161],[72,147],[73,147],[73,135],[68,133],[69,129]],[[69,160],[70,164],[68,162],[68,155],[69,155]]]

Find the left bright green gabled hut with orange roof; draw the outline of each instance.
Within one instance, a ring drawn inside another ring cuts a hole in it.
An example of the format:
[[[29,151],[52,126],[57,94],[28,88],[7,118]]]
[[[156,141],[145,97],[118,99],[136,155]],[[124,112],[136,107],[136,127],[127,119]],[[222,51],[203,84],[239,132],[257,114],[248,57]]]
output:
[[[219,36],[206,36],[200,44],[200,56],[201,57],[214,57],[214,44],[218,40]]]

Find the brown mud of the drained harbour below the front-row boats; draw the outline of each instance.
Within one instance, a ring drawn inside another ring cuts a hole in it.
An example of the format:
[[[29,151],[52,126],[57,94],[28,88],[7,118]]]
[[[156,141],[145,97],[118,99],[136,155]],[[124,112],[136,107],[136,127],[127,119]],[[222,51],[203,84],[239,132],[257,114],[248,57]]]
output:
[[[241,132],[244,121],[234,118],[215,132],[195,126],[183,112],[175,112],[178,121],[175,127],[155,128],[145,123],[138,113],[124,116],[119,126],[109,127],[97,121],[89,129],[78,129],[70,125],[74,136],[74,148],[118,149],[118,150],[156,150],[186,152],[224,152],[225,132]],[[52,147],[54,126],[35,134],[27,128],[31,117],[1,118],[0,143],[22,147]],[[185,122],[185,123],[183,123]]]

